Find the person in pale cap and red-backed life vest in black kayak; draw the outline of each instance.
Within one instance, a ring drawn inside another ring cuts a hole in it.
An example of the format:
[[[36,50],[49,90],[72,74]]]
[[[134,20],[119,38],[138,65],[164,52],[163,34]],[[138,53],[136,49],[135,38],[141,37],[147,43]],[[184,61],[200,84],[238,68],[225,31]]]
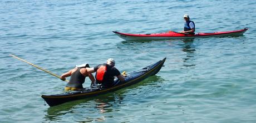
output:
[[[88,72],[96,72],[95,84],[101,84],[102,88],[110,88],[114,86],[114,76],[116,76],[120,81],[125,81],[124,76],[120,73],[119,70],[115,68],[115,60],[107,59],[107,64],[99,64],[93,68],[89,68]]]

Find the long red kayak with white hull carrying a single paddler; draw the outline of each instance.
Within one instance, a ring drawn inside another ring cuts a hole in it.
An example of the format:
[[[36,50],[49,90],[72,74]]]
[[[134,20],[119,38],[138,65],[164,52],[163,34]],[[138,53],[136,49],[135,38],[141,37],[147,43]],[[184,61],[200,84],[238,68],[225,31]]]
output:
[[[166,32],[166,33],[152,33],[152,34],[130,34],[120,33],[113,31],[120,38],[125,40],[168,40],[168,39],[193,39],[193,38],[209,38],[209,37],[228,37],[228,36],[240,36],[248,30],[248,28],[240,30],[232,30],[226,32],[214,32],[214,33],[196,33],[196,34],[183,34],[178,32]]]

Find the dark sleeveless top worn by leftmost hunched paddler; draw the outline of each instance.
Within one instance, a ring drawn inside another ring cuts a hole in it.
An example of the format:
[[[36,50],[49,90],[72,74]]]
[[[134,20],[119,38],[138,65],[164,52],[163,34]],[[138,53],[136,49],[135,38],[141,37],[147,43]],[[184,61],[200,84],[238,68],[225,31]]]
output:
[[[72,73],[66,87],[83,88],[82,84],[85,83],[85,76],[80,73],[80,69],[81,68],[77,68],[77,70]]]

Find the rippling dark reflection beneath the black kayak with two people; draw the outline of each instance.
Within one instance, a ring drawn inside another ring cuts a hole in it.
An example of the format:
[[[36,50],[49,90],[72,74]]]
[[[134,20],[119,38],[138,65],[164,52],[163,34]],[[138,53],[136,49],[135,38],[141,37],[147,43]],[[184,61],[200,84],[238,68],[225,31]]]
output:
[[[99,95],[94,98],[87,98],[83,100],[76,100],[72,102],[67,102],[65,104],[49,107],[46,111],[44,117],[46,122],[59,121],[63,120],[65,117],[77,117],[81,119],[79,122],[92,122],[92,121],[105,121],[107,117],[105,114],[108,112],[118,112],[120,106],[125,106],[125,100],[127,96],[126,93],[129,93],[132,90],[140,89],[142,86],[155,86],[156,81],[161,81],[160,76],[151,76],[139,84],[132,85],[116,93],[109,93],[105,95]],[[147,89],[147,88],[146,88]],[[139,96],[139,95],[136,95]]]

